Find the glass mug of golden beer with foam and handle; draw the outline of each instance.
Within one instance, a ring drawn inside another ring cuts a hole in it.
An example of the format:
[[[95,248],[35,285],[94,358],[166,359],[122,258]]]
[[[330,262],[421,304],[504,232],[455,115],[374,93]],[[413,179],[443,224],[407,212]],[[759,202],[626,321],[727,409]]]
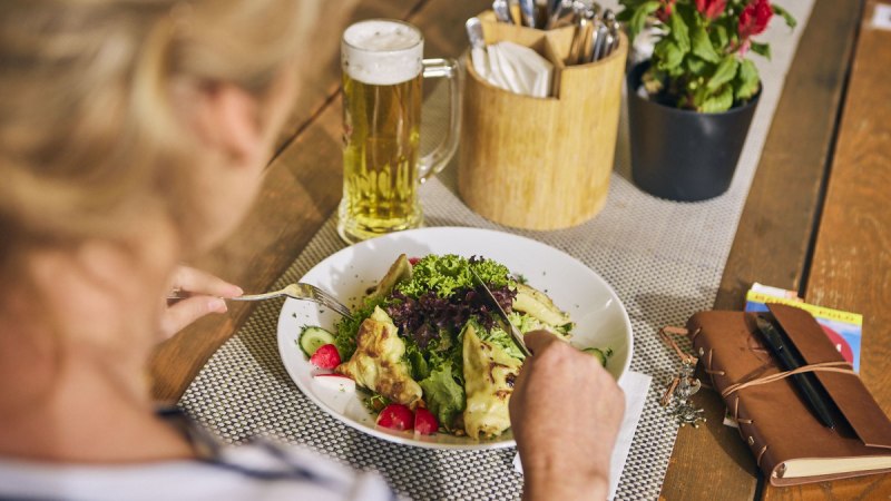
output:
[[[341,39],[343,70],[343,198],[337,233],[347,243],[419,227],[418,187],[458,148],[460,72],[452,59],[422,59],[412,24],[372,19]],[[449,79],[450,122],[439,146],[420,156],[421,81]]]

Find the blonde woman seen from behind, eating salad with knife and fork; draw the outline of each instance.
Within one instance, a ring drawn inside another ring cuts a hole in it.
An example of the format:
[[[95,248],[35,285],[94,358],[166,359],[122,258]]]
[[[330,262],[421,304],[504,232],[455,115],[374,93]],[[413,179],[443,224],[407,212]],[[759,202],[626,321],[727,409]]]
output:
[[[312,11],[0,2],[0,498],[392,498],[374,473],[293,449],[218,448],[156,412],[145,375],[158,341],[241,294],[177,264],[255,196],[312,71]],[[168,310],[173,287],[193,297]],[[529,345],[511,402],[525,495],[603,499],[621,393],[551,336]]]

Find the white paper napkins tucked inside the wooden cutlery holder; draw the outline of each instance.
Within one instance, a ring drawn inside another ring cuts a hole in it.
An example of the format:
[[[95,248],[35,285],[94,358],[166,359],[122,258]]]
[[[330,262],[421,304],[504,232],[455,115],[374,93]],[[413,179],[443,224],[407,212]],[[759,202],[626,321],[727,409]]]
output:
[[[554,65],[529,47],[500,41],[470,52],[473,69],[491,85],[515,94],[550,96]]]

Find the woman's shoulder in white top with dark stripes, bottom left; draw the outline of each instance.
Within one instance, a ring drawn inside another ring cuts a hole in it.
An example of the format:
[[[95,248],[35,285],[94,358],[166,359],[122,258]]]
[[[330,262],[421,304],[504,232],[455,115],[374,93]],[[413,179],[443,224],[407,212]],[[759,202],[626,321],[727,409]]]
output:
[[[383,480],[264,440],[212,458],[58,464],[0,458],[0,499],[390,500]]]

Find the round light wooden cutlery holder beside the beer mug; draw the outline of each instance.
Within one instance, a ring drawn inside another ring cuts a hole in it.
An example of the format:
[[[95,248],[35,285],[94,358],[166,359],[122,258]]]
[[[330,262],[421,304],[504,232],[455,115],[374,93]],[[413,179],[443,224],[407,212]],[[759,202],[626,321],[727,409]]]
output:
[[[574,27],[550,31],[479,16],[487,43],[510,40],[555,65],[554,97],[497,88],[468,60],[458,189],[492,222],[558,229],[594,217],[606,204],[618,134],[628,40],[608,57],[566,66]],[[469,58],[469,56],[468,56]]]

